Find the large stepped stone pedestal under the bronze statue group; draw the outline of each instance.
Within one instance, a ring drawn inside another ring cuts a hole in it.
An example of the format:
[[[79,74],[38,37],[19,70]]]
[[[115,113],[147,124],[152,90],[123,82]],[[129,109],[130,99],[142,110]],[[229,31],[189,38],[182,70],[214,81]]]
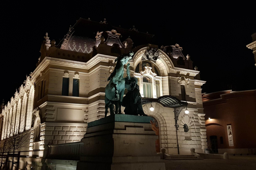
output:
[[[77,170],[165,170],[150,117],[112,115],[88,123]]]

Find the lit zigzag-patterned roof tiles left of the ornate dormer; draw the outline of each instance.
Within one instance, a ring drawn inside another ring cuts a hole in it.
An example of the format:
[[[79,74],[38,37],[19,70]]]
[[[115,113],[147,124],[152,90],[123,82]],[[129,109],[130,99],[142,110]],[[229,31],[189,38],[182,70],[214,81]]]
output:
[[[96,39],[88,37],[71,36],[65,46],[66,50],[90,53],[95,45]]]

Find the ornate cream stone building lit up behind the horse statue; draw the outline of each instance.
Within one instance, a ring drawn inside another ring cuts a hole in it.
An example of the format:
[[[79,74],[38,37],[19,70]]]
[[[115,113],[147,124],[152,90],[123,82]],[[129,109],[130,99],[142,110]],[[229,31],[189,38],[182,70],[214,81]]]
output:
[[[57,146],[75,142],[80,147],[87,123],[104,117],[105,86],[116,57],[130,50],[134,52],[131,76],[138,78],[142,97],[171,95],[188,103],[189,113],[181,111],[178,121],[180,153],[190,153],[191,147],[204,152],[207,143],[201,86],[205,81],[200,80],[197,67],[193,68],[189,55],[184,57],[179,44],[159,48],[149,44],[152,37],[134,27],[123,29],[106,21],[81,18],[58,45],[46,33],[36,69],[1,113],[1,140],[9,137],[10,129],[15,133],[29,130],[30,139],[21,153],[26,157],[20,160],[19,168],[33,162],[54,162],[51,155]],[[126,76],[126,67],[124,72]],[[154,111],[151,104],[143,105],[143,109],[152,117],[159,135],[157,151],[165,147],[167,153],[177,154],[174,109],[152,105]]]

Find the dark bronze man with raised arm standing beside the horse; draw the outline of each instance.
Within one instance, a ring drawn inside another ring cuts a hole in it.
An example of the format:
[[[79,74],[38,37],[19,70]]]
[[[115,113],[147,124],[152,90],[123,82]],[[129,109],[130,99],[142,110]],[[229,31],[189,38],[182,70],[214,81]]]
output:
[[[147,116],[142,108],[141,95],[138,79],[130,77],[130,63],[127,64],[127,77],[125,77],[125,88],[128,90],[123,98],[122,106],[125,107],[124,113],[126,115],[140,115]]]

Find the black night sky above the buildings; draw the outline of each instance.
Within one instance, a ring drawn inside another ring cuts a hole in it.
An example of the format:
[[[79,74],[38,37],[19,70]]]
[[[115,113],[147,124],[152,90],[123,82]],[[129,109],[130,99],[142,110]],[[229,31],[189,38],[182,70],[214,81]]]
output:
[[[178,43],[184,56],[189,54],[194,66],[198,66],[201,79],[207,81],[203,92],[256,89],[254,57],[246,47],[256,32],[255,3],[59,2],[2,4],[0,99],[5,103],[26,74],[36,68],[45,33],[58,44],[69,25],[80,17],[93,21],[106,18],[107,23],[127,29],[135,25],[138,31],[155,35],[154,44],[159,47]]]

